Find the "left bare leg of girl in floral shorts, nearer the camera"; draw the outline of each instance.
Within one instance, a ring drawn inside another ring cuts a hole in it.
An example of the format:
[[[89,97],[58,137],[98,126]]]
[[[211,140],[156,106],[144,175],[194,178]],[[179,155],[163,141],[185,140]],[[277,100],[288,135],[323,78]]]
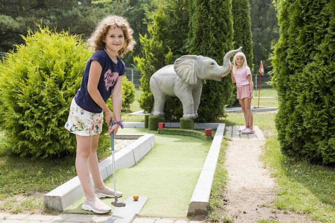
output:
[[[92,138],[92,136],[80,136],[76,134],[76,170],[79,181],[88,200],[95,198],[95,193],[90,180],[90,172],[88,169],[88,157],[91,151]]]

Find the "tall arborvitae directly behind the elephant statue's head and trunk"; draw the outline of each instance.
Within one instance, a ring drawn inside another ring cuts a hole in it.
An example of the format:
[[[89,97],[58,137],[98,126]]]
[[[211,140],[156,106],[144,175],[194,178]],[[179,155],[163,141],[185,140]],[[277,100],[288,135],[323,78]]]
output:
[[[192,2],[192,1],[191,1]],[[190,54],[203,55],[222,64],[233,46],[232,0],[198,0],[194,2],[190,31]],[[224,116],[224,107],[232,96],[229,76],[221,82],[208,80],[203,85],[198,122],[213,122]]]

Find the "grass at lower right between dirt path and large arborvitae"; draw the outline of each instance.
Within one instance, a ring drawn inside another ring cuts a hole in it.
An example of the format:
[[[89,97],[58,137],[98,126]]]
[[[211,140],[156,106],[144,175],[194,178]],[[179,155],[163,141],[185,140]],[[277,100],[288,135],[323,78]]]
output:
[[[335,222],[334,168],[289,159],[281,153],[276,135],[267,137],[262,160],[278,184],[275,208]]]

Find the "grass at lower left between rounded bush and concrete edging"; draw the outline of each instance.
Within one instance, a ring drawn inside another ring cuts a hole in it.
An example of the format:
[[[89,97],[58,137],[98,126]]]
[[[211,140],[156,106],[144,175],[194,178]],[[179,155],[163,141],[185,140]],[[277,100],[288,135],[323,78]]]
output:
[[[22,158],[6,150],[0,135],[0,211],[52,212],[44,208],[45,193],[77,176],[75,155],[62,158]],[[101,136],[98,159],[110,155],[109,137]]]

